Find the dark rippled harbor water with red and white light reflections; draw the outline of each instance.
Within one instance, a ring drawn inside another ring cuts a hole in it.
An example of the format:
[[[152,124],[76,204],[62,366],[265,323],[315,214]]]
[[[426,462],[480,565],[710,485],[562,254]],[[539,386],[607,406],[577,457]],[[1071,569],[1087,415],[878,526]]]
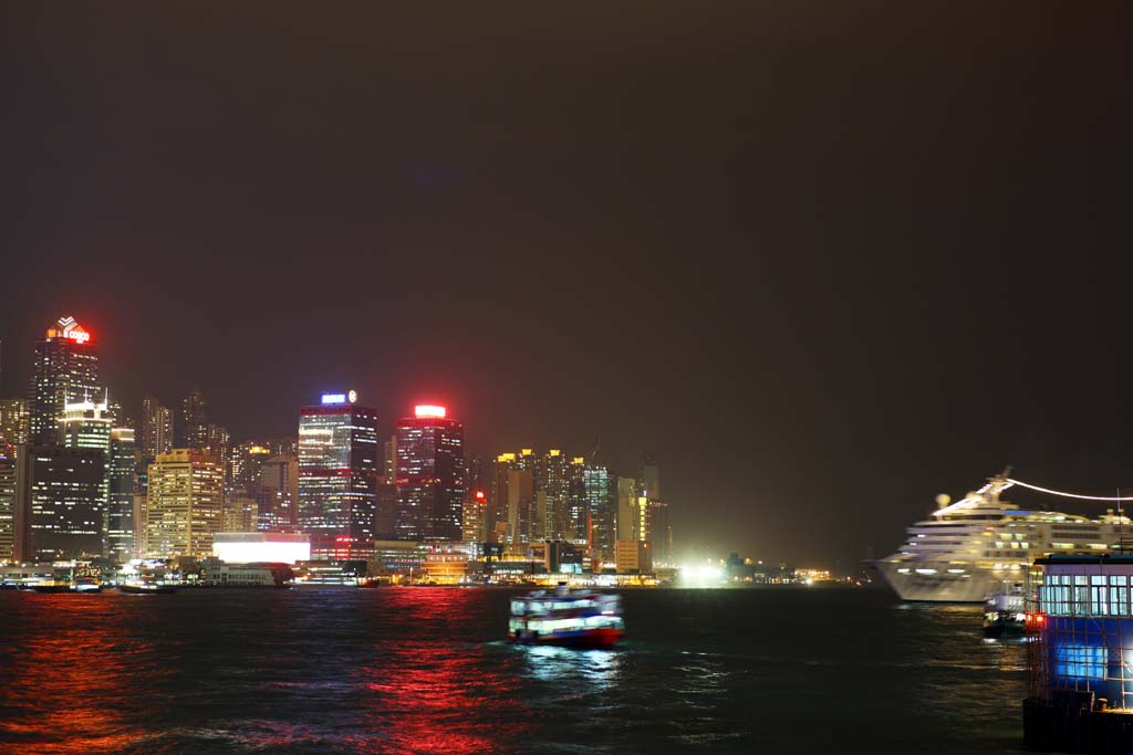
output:
[[[0,753],[1022,752],[979,606],[623,592],[616,651],[504,641],[513,592],[0,592]]]

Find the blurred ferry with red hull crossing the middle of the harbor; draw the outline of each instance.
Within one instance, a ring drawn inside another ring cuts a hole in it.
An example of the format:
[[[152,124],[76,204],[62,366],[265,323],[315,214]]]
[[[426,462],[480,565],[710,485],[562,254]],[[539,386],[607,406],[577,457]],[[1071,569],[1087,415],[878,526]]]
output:
[[[511,600],[508,630],[531,645],[612,647],[625,634],[621,595],[561,586]]]

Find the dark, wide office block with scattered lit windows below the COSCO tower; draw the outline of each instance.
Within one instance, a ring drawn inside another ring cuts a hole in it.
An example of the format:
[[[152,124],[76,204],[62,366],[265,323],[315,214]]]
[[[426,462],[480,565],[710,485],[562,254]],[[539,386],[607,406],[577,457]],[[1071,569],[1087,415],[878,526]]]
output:
[[[17,462],[15,559],[57,561],[102,556],[105,453],[27,446]]]

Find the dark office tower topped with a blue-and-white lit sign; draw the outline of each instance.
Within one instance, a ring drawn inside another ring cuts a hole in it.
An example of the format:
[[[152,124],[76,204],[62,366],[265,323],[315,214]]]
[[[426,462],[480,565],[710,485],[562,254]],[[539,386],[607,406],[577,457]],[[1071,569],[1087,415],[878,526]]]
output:
[[[357,394],[299,410],[299,525],[312,558],[367,558],[377,496],[377,412]]]

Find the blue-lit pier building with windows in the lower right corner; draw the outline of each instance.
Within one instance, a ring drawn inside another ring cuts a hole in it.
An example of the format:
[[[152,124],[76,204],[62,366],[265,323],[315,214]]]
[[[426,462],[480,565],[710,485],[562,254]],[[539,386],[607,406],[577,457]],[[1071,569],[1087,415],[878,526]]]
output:
[[[1049,556],[1030,576],[1026,746],[1133,752],[1133,556]]]

